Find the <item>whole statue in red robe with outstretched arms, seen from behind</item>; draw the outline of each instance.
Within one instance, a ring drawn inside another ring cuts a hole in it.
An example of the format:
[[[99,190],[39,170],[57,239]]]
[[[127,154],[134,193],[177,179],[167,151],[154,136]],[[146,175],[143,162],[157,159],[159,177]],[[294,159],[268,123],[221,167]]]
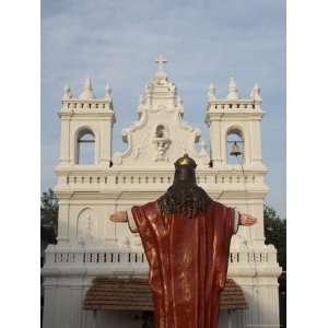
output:
[[[162,197],[110,215],[140,234],[157,328],[218,327],[231,237],[257,221],[212,200],[197,186],[196,166],[184,155]]]

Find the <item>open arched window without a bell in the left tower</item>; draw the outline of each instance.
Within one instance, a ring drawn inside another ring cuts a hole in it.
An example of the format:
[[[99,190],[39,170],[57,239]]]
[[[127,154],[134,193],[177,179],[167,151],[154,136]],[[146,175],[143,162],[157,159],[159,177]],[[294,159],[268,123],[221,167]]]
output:
[[[95,163],[95,138],[90,129],[79,132],[77,139],[77,164],[90,165]]]

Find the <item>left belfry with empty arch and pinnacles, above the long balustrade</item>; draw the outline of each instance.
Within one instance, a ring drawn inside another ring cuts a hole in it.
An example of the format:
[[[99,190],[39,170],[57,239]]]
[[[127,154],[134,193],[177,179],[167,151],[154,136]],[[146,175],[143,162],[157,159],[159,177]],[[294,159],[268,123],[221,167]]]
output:
[[[78,97],[72,96],[67,85],[59,117],[61,140],[57,169],[71,169],[77,165],[107,167],[112,160],[112,134],[115,124],[109,86],[105,87],[104,98],[96,98],[90,78],[85,79]]]

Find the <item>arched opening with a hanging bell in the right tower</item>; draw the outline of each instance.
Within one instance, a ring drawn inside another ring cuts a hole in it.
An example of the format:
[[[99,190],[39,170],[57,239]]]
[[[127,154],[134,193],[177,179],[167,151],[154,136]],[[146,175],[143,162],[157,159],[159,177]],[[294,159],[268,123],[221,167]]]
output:
[[[245,162],[245,142],[239,129],[230,129],[226,133],[226,163],[244,164]]]

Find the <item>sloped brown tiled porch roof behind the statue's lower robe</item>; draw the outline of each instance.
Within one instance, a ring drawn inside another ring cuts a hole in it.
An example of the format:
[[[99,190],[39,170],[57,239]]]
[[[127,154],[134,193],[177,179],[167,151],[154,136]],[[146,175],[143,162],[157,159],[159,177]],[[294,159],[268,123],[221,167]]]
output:
[[[153,301],[147,279],[95,278],[83,306],[84,309],[153,311]],[[233,279],[227,279],[221,293],[220,308],[247,308],[243,290]]]

